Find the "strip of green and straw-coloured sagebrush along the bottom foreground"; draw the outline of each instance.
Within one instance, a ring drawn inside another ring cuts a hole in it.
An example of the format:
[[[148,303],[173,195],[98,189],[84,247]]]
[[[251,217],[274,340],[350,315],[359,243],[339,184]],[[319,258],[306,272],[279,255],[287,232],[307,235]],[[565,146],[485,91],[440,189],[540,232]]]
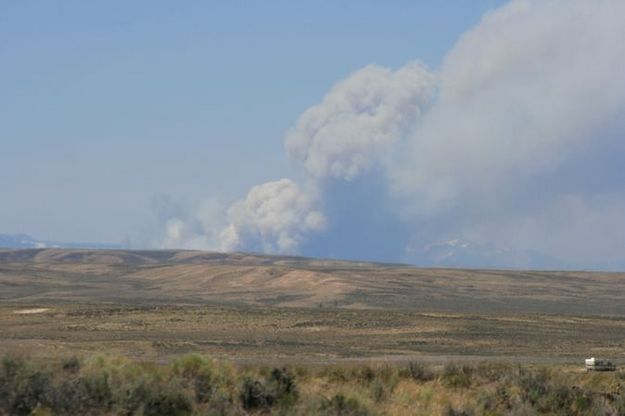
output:
[[[191,354],[168,363],[6,355],[7,415],[617,415],[625,373],[424,363],[265,367]]]

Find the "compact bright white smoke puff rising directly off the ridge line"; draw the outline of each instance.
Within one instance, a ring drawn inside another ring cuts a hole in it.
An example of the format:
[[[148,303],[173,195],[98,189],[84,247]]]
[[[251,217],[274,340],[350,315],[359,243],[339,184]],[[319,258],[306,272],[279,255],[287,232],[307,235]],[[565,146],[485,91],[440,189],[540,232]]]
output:
[[[228,211],[230,224],[221,232],[220,249],[293,253],[303,237],[325,227],[314,199],[290,179],[253,187]]]

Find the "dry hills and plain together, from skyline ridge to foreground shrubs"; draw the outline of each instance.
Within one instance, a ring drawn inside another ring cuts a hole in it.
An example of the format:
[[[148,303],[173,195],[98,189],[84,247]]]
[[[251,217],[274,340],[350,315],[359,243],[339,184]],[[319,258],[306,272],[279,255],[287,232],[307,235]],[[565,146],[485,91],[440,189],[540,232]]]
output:
[[[0,251],[0,353],[625,361],[625,274],[190,251]]]

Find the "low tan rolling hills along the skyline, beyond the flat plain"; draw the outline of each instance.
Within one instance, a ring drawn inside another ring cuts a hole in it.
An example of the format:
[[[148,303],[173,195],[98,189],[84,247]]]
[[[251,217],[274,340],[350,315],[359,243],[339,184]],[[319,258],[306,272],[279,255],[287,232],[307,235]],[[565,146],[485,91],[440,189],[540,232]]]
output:
[[[424,269],[200,251],[0,250],[11,303],[250,304],[625,315],[625,273]]]

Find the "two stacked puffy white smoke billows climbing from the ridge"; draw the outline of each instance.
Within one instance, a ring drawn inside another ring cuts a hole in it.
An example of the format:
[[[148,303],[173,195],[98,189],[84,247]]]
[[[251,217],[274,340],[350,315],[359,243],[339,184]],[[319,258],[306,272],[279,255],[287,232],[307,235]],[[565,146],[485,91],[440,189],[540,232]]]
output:
[[[319,211],[329,205],[326,181],[351,182],[383,168],[393,145],[414,127],[434,90],[435,77],[416,62],[397,71],[369,65],[339,82],[287,134],[289,155],[301,160],[309,174],[307,192],[288,179],[252,188],[229,209],[218,248],[298,252],[311,233],[326,228]]]

